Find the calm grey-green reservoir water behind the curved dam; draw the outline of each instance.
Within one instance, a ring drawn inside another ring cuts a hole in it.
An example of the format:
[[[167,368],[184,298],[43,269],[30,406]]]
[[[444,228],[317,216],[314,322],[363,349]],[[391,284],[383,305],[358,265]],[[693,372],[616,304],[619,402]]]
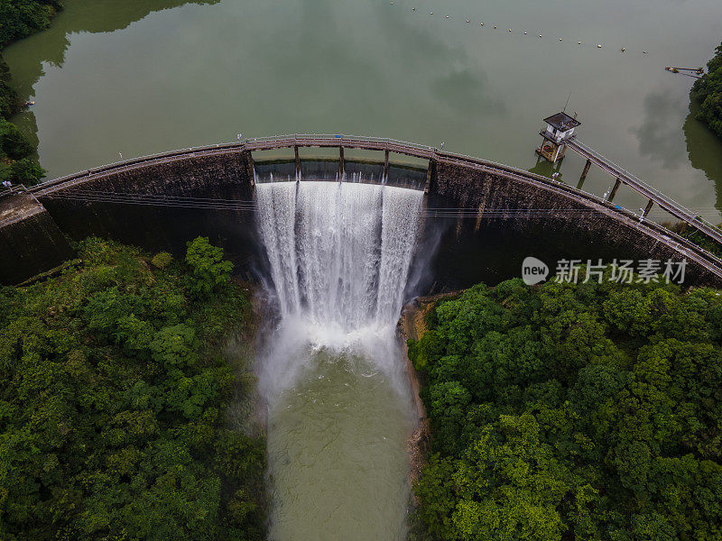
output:
[[[5,50],[37,102],[15,121],[50,177],[121,153],[304,132],[444,142],[551,175],[537,133],[569,97],[583,142],[720,220],[722,143],[690,115],[693,79],[664,70],[712,57],[719,0],[65,5],[49,31]],[[582,167],[570,155],[560,178],[576,186]],[[593,169],[584,188],[612,183]],[[626,189],[616,201],[643,206]]]

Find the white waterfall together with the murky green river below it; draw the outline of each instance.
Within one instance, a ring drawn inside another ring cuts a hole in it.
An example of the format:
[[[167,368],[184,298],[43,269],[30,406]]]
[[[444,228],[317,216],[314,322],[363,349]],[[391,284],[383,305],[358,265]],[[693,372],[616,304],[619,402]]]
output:
[[[281,310],[259,357],[277,541],[402,540],[413,409],[395,324],[423,192],[255,187]]]

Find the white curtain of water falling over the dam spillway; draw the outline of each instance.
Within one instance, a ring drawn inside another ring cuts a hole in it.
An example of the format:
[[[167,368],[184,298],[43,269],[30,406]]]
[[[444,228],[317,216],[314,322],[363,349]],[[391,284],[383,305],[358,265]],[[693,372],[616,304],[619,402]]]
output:
[[[282,315],[346,333],[395,323],[423,192],[348,182],[268,182],[256,197]]]

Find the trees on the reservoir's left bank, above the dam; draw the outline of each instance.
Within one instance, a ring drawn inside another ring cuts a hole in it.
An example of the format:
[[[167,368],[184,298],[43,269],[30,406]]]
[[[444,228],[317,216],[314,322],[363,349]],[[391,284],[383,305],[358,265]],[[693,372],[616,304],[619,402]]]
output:
[[[0,181],[34,184],[44,171],[32,142],[8,119],[20,110],[2,50],[13,41],[48,28],[62,7],[58,0],[0,0]]]

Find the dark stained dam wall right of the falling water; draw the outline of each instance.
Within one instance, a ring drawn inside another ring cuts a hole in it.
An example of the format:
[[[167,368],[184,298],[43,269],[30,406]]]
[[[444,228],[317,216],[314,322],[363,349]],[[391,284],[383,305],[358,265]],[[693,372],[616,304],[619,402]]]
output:
[[[520,254],[546,254],[542,260],[552,273],[556,262],[563,258],[593,263],[601,259],[607,264],[615,259],[686,259],[687,282],[722,283],[719,274],[711,270],[718,265],[716,258],[662,225],[640,222],[633,213],[590,199],[576,188],[555,186],[532,175],[476,170],[440,160],[432,175],[428,205],[430,209],[464,209],[453,225],[448,225],[447,249],[441,251],[447,252],[447,264],[455,259],[453,254],[460,246],[468,245],[467,251],[473,251],[473,246],[484,251],[485,244],[489,244],[485,239],[491,237],[493,244],[501,237],[502,243],[517,244]],[[495,261],[493,253],[491,257],[499,269],[508,265]],[[514,261],[514,268],[505,271],[507,275],[519,276],[521,262]],[[473,280],[474,273],[458,261],[449,271],[440,268],[436,274],[454,287]]]

